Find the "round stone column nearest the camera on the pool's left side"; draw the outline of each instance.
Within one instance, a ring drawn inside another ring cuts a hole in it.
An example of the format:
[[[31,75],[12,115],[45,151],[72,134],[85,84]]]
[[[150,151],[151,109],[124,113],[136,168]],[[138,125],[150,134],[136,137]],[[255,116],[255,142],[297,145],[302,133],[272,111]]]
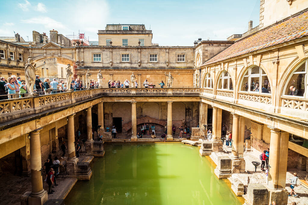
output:
[[[31,184],[32,191],[28,199],[31,204],[44,204],[48,200],[47,191],[43,189],[42,159],[40,129],[30,132],[30,160],[31,160]]]

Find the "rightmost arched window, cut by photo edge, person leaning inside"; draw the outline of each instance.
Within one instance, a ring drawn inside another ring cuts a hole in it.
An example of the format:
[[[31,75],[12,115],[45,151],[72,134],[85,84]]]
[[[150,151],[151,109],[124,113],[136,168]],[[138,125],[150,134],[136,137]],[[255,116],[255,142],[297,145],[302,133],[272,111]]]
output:
[[[290,75],[288,84],[285,87],[285,95],[307,97],[307,80],[308,59],[302,62]]]

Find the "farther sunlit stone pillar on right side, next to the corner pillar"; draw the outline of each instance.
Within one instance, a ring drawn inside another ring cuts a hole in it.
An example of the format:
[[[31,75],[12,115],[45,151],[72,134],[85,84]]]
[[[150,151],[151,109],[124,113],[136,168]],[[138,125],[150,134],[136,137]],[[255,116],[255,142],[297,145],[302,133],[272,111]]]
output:
[[[222,110],[217,107],[213,107],[213,131],[212,131],[212,144],[213,152],[222,152],[221,138],[221,112]]]

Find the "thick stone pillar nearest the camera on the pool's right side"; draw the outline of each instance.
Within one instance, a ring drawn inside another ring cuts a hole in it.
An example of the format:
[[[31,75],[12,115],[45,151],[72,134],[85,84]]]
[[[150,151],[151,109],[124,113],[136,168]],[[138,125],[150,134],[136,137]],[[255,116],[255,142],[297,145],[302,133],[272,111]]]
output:
[[[285,191],[286,171],[288,159],[289,133],[282,132],[271,126],[270,128],[270,158],[269,158],[269,176],[268,189],[269,201],[275,201],[277,204],[286,204],[288,197]]]

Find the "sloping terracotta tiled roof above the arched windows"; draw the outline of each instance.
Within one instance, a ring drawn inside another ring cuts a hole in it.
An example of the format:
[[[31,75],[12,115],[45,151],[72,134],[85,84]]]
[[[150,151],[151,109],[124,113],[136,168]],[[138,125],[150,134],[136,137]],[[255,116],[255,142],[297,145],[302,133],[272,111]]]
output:
[[[212,57],[203,65],[209,65],[231,57],[240,56],[255,50],[277,45],[308,35],[308,11],[298,14],[284,22],[261,30],[235,42],[233,45]]]

